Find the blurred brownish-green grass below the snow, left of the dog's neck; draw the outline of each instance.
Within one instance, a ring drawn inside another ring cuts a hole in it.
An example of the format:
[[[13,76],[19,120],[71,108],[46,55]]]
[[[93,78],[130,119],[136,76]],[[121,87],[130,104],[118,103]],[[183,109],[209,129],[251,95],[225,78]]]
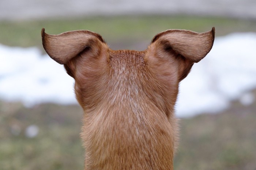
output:
[[[0,102],[0,112],[1,170],[83,168],[79,106],[42,104],[25,108],[20,103]],[[35,138],[25,135],[31,124],[39,127]],[[13,133],[15,129],[20,132]]]

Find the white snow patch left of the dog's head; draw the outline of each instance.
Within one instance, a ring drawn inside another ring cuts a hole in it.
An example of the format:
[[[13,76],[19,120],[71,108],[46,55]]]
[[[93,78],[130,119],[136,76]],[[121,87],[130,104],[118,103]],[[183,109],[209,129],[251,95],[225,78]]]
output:
[[[0,46],[0,60],[0,98],[22,101],[25,106],[76,103],[74,80],[37,48]]]

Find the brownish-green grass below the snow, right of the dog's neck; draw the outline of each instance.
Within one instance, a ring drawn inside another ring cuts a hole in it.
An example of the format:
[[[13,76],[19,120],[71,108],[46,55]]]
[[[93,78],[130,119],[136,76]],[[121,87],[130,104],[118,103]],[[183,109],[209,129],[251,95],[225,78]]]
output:
[[[176,169],[255,170],[256,102],[181,120]]]

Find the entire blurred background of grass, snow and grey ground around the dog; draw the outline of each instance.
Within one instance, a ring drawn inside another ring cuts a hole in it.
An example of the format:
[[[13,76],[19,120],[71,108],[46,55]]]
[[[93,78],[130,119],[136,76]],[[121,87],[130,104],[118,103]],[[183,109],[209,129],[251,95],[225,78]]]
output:
[[[83,169],[73,80],[41,29],[88,29],[110,48],[144,50],[166,29],[216,29],[180,84],[177,170],[256,170],[255,0],[1,0],[0,169]]]

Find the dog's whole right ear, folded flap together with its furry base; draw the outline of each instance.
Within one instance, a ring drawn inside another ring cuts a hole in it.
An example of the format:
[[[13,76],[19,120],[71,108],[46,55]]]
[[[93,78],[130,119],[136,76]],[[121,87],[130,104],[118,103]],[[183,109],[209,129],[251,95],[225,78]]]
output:
[[[214,35],[214,27],[204,33],[178,29],[161,32],[148,46],[145,59],[159,75],[172,72],[172,75],[177,75],[178,81],[181,81],[189,74],[193,64],[210,52]]]

